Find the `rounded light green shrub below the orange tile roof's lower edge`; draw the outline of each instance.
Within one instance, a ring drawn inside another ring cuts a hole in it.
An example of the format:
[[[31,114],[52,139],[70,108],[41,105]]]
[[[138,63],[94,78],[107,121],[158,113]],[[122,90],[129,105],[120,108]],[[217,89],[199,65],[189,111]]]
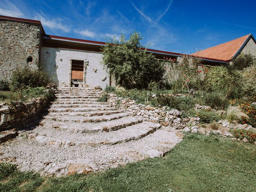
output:
[[[229,87],[228,69],[223,66],[213,67],[205,77],[207,91],[223,91]]]

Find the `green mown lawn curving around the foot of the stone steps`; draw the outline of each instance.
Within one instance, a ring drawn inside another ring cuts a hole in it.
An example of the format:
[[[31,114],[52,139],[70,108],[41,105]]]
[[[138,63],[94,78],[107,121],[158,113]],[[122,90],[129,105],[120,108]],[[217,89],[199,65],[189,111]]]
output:
[[[101,174],[60,178],[21,173],[1,164],[0,182],[1,192],[253,192],[256,145],[188,134],[164,158],[146,159]]]

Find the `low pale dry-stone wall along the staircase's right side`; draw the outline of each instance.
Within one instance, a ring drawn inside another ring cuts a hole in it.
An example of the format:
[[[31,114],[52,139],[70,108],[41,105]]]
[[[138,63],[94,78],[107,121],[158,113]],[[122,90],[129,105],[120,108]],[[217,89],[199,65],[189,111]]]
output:
[[[150,122],[158,122],[163,126],[170,125],[176,129],[183,129],[186,126],[196,126],[200,121],[200,118],[181,118],[182,113],[176,109],[155,108],[149,105],[136,104],[134,100],[117,97],[116,94],[108,95],[110,96],[108,102],[111,106],[122,108],[132,116],[138,116]]]

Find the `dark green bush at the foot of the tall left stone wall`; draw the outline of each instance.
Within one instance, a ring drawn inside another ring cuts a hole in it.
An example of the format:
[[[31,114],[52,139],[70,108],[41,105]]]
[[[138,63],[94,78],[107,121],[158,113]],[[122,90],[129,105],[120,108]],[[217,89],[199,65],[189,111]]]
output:
[[[28,87],[46,87],[50,83],[48,74],[42,70],[31,70],[30,68],[16,69],[10,79],[12,91],[26,89]]]

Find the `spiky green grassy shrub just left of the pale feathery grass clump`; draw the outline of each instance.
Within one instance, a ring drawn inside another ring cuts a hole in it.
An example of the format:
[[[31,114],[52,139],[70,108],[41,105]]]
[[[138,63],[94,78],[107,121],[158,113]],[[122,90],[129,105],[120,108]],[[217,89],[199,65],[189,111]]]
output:
[[[217,110],[224,110],[228,105],[228,99],[219,92],[206,93],[203,100],[206,105]]]

